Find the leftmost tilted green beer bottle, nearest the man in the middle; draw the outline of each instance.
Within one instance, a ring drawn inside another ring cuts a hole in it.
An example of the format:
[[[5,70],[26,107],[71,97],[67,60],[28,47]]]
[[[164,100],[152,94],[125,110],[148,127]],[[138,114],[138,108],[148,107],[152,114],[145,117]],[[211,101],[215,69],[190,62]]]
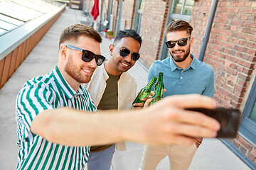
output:
[[[134,103],[145,103],[145,101],[142,101],[142,98],[148,98],[149,94],[151,92],[152,86],[154,85],[154,83],[156,82],[156,77],[152,77],[152,79],[149,81],[148,84],[146,84],[146,86],[144,88],[141,89],[141,91],[139,91],[138,96],[135,98]]]

